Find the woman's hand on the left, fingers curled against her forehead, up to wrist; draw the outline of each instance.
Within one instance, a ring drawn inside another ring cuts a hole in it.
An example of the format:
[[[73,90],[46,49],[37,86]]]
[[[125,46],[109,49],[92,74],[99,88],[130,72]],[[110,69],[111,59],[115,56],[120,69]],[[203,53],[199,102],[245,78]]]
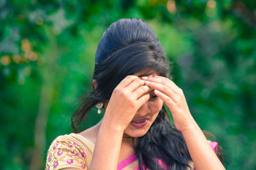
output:
[[[124,131],[137,110],[150,99],[149,87],[138,76],[127,76],[113,90],[106,104],[104,124]]]

